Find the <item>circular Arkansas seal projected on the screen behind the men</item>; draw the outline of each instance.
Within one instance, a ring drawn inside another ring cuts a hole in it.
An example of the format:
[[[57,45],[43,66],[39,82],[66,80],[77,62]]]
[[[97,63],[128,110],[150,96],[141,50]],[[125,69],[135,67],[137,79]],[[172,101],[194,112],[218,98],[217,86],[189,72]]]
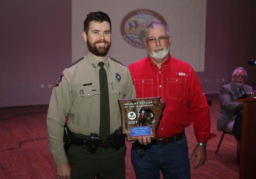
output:
[[[121,33],[125,41],[136,48],[145,48],[145,28],[152,21],[167,25],[163,17],[148,9],[137,9],[127,14],[121,22]]]

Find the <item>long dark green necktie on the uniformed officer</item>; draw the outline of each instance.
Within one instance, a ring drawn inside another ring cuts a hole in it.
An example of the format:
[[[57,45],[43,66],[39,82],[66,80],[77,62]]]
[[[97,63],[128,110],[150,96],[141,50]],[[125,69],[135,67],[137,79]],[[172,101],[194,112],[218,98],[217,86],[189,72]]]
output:
[[[109,87],[108,78],[104,63],[99,62],[99,86],[100,86],[100,126],[99,136],[106,139],[110,135],[110,102],[109,102]]]

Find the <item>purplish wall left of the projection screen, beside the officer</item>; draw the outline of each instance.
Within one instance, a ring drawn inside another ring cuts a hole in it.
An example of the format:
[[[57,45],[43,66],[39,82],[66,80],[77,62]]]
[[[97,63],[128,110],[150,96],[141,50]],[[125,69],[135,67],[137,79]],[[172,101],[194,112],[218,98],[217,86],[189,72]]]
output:
[[[71,63],[71,1],[2,0],[0,107],[48,104]]]

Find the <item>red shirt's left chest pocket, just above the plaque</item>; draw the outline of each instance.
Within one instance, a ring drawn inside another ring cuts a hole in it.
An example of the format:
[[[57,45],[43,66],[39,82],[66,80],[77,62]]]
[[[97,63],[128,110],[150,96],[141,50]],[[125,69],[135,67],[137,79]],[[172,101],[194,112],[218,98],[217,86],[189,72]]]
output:
[[[138,97],[154,96],[153,79],[134,79],[134,86]]]

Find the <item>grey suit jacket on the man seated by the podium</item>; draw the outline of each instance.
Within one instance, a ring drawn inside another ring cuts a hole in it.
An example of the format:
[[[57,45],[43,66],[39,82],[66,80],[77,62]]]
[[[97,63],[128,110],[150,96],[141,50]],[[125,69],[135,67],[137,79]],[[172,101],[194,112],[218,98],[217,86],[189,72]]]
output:
[[[246,94],[253,91],[249,85],[243,85],[243,90]],[[219,98],[221,103],[221,111],[217,120],[217,130],[223,131],[227,123],[236,117],[237,110],[242,109],[243,103],[235,102],[240,96],[240,93],[233,82],[223,85],[220,90]]]

